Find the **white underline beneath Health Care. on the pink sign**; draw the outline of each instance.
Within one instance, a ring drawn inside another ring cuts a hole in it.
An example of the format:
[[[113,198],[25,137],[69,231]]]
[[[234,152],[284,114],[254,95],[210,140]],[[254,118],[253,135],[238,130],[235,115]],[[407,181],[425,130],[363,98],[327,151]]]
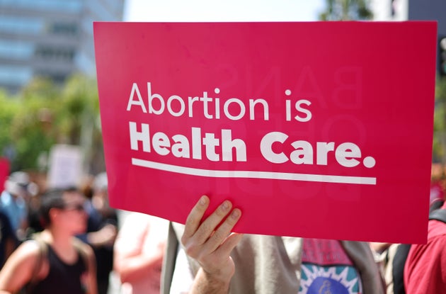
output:
[[[329,176],[324,174],[292,174],[273,171],[215,171],[210,169],[195,169],[193,167],[176,166],[172,164],[161,164],[149,160],[132,158],[135,166],[159,169],[160,171],[171,171],[178,174],[190,176],[207,176],[210,178],[249,178],[249,179],[273,179],[288,181],[315,181],[323,183],[358,183],[362,185],[376,185],[377,178],[364,176]]]

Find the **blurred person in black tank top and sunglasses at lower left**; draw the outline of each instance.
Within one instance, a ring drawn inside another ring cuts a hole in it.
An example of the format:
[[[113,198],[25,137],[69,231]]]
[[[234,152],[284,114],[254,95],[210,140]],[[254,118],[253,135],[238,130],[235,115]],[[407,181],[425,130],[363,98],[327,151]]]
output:
[[[93,250],[74,237],[86,230],[84,197],[72,188],[50,191],[41,206],[45,230],[6,261],[0,293],[97,294]]]

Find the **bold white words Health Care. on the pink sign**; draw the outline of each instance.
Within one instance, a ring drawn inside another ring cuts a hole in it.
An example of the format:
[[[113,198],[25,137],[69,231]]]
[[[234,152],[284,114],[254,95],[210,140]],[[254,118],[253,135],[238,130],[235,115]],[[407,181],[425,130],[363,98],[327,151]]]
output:
[[[176,158],[198,159],[205,156],[212,162],[234,161],[232,151],[235,150],[236,162],[246,162],[246,143],[241,139],[233,139],[231,130],[222,130],[221,137],[211,132],[202,134],[201,128],[191,128],[189,135],[176,134],[171,137],[164,132],[151,133],[150,125],[142,123],[137,125],[129,122],[130,145],[132,150],[139,151],[142,145],[143,152],[152,150],[161,156],[173,155]],[[268,132],[260,142],[260,150],[263,158],[273,164],[292,162],[294,164],[328,165],[328,153],[333,152],[336,162],[345,167],[358,166],[362,159],[360,147],[352,142],[343,142],[336,145],[335,142],[316,142],[315,147],[304,140],[288,140],[289,137],[283,132]],[[292,142],[291,142],[292,141]],[[140,144],[141,143],[141,144]],[[294,151],[289,154],[276,152],[273,145],[290,144]],[[219,148],[217,148],[219,147]],[[373,157],[364,157],[362,164],[372,168],[375,164]]]

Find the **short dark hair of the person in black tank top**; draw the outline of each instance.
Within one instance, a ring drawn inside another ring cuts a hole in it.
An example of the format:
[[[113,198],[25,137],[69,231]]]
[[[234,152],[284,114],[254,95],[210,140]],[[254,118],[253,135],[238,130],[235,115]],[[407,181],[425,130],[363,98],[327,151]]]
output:
[[[40,222],[42,227],[47,227],[51,223],[51,208],[65,208],[64,193],[79,192],[76,187],[51,189],[42,194],[40,198]]]

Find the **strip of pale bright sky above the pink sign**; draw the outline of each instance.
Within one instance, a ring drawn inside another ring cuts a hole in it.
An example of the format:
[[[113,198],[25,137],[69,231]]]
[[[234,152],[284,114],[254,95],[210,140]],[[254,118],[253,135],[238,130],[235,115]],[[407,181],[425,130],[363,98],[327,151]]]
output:
[[[317,21],[325,0],[126,0],[124,21]]]

